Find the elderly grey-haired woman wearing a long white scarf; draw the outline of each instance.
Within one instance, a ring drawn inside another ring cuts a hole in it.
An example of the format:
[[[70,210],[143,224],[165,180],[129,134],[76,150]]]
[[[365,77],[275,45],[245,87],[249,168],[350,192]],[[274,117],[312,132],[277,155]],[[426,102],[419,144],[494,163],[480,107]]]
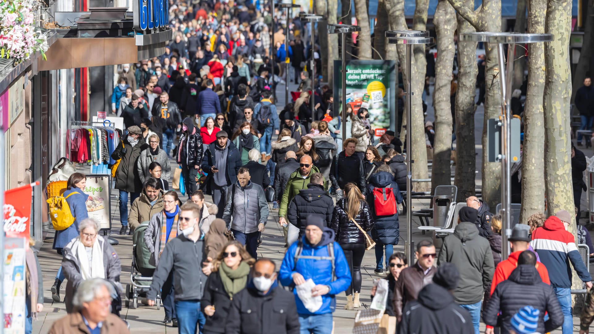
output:
[[[119,275],[122,272],[118,253],[107,238],[98,235],[97,220],[84,219],[78,224],[78,231],[80,235],[64,247],[62,260],[62,269],[68,279],[64,297],[68,313],[73,310],[72,296],[81,282],[90,278],[102,278],[119,286]]]

